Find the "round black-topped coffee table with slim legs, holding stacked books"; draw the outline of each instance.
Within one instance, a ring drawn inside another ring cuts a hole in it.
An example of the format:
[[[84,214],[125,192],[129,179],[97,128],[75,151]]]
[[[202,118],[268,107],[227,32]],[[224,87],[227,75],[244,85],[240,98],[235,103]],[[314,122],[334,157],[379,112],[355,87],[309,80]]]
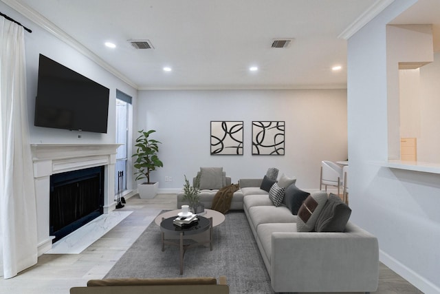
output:
[[[162,251],[165,251],[165,243],[179,246],[180,249],[180,274],[184,273],[184,254],[186,249],[191,248],[192,246],[197,246],[199,244],[210,244],[210,251],[212,251],[212,218],[203,218],[203,216],[197,216],[199,222],[197,224],[193,224],[190,227],[179,227],[173,224],[173,220],[175,220],[177,216],[173,216],[172,218],[162,218],[162,222],[160,223],[160,231],[162,232]],[[203,233],[204,231],[209,230],[209,240],[206,242],[196,242],[194,244],[186,244],[184,245],[184,235],[197,235],[199,233]],[[169,240],[165,240],[165,232],[167,235],[179,235],[179,243],[172,242]]]

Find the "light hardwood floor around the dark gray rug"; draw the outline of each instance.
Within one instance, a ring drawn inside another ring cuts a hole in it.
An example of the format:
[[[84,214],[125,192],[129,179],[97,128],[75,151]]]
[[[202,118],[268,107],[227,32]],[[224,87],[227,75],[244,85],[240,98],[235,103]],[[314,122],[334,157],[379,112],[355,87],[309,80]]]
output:
[[[68,294],[72,286],[85,286],[87,280],[101,279],[135,242],[162,209],[176,209],[175,194],[159,194],[154,199],[133,196],[119,210],[133,211],[116,227],[80,254],[43,254],[38,264],[17,277],[0,278],[0,294]],[[380,294],[421,293],[417,288],[380,265]]]

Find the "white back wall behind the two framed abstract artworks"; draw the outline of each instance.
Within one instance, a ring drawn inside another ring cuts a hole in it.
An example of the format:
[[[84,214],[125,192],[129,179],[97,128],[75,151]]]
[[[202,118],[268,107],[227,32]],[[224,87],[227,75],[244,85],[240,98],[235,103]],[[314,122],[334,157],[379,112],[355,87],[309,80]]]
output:
[[[162,191],[181,189],[199,167],[223,167],[232,182],[278,167],[318,189],[320,161],[347,159],[346,90],[140,91],[137,116],[137,129],[162,142],[164,167],[152,177]],[[210,155],[211,120],[243,120],[243,156]],[[253,120],[285,120],[285,156],[251,155]]]

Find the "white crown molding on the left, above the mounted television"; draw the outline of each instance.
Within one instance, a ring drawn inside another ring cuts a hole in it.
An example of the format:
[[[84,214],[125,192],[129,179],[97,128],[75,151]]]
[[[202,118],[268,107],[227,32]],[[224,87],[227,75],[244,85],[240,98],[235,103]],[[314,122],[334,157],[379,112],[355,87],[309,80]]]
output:
[[[23,17],[26,17],[30,21],[36,23],[36,25],[39,25],[47,32],[50,32],[50,34],[53,34],[56,38],[60,39],[67,45],[71,46],[72,48],[74,48],[84,56],[87,56],[89,59],[91,59],[91,61],[94,61],[96,64],[100,65],[100,67],[103,67],[104,70],[107,70],[107,72],[110,72],[111,74],[113,74],[117,78],[120,78],[122,81],[124,81],[125,83],[127,83],[128,85],[130,85],[131,87],[137,90],[137,85],[133,83],[133,81],[131,81],[129,78],[124,76],[124,74],[120,73],[114,67],[109,65],[109,63],[105,62],[94,52],[91,52],[83,44],[76,41],[76,39],[72,38],[72,36],[61,30],[61,28],[58,28],[58,26],[56,26],[54,23],[43,17],[43,15],[41,15],[39,12],[36,12],[36,10],[21,3],[21,1],[19,0],[1,0],[1,1],[10,8],[22,14]]]

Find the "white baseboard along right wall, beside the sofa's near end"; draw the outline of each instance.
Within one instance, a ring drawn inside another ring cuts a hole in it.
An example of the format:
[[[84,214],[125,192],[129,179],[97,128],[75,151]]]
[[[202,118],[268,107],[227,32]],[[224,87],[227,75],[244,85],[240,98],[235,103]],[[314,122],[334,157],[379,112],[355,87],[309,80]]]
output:
[[[415,271],[412,271],[412,269],[408,268],[408,266],[401,264],[401,262],[391,257],[387,253],[384,253],[384,251],[379,251],[379,258],[383,264],[395,271],[398,275],[401,275],[401,277],[410,282],[423,293],[440,293],[440,288],[438,286],[432,284],[432,282],[426,280],[426,278],[422,277]]]

